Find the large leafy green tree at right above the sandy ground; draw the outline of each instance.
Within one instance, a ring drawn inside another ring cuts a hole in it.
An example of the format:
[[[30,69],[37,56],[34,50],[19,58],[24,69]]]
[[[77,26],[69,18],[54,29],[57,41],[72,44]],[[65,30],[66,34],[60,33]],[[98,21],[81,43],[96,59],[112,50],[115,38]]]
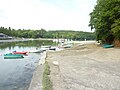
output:
[[[97,0],[90,17],[89,26],[95,29],[97,40],[120,41],[120,0]]]

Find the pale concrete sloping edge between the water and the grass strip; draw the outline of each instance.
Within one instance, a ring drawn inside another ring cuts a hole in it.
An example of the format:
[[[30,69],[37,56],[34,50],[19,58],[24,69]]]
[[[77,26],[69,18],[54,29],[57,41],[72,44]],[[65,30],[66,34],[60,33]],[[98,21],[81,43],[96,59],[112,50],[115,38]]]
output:
[[[44,72],[44,63],[46,59],[46,52],[43,52],[41,55],[41,59],[38,62],[38,66],[36,70],[33,73],[33,77],[31,79],[30,85],[28,90],[42,90],[42,78],[43,78],[43,72]]]

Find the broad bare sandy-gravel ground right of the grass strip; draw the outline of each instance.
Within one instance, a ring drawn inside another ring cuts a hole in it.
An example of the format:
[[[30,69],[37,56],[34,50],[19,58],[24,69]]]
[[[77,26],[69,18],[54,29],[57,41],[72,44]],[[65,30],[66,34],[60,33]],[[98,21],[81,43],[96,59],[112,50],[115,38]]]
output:
[[[47,61],[54,90],[120,90],[120,49],[76,46],[48,52]]]

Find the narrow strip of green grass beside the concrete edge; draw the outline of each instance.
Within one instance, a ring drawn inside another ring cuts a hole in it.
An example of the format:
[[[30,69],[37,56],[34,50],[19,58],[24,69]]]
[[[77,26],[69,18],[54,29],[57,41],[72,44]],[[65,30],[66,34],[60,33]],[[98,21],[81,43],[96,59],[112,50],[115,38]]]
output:
[[[43,80],[42,80],[43,90],[53,90],[52,82],[50,81],[49,75],[50,75],[50,67],[48,65],[48,62],[46,61],[43,72]]]

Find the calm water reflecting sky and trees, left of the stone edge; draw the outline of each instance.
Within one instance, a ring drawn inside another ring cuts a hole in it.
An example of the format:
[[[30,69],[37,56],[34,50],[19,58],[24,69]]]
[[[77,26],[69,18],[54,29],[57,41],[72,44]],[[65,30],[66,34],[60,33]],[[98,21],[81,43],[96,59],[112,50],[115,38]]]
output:
[[[51,41],[0,43],[0,90],[27,90],[41,57],[41,53],[28,53],[23,59],[4,59],[3,55],[14,50],[39,48],[43,42],[45,45],[52,44]]]

